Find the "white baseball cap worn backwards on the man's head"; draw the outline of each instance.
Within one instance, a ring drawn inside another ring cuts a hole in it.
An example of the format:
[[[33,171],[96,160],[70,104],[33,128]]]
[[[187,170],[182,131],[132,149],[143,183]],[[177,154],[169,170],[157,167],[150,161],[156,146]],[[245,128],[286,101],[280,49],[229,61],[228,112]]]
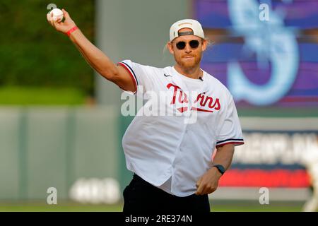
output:
[[[184,34],[179,34],[179,30],[182,28],[190,28],[193,32],[184,32]],[[196,35],[204,38],[204,31],[202,29],[201,23],[199,23],[197,20],[184,19],[172,24],[170,27],[170,42],[176,37],[182,35]]]

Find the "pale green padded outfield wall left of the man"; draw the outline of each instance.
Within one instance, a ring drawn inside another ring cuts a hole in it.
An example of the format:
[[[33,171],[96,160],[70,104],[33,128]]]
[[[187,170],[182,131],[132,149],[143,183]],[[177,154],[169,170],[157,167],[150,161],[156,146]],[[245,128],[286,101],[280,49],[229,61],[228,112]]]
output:
[[[49,187],[66,199],[78,179],[119,180],[112,107],[2,107],[0,124],[1,201],[43,199]]]

